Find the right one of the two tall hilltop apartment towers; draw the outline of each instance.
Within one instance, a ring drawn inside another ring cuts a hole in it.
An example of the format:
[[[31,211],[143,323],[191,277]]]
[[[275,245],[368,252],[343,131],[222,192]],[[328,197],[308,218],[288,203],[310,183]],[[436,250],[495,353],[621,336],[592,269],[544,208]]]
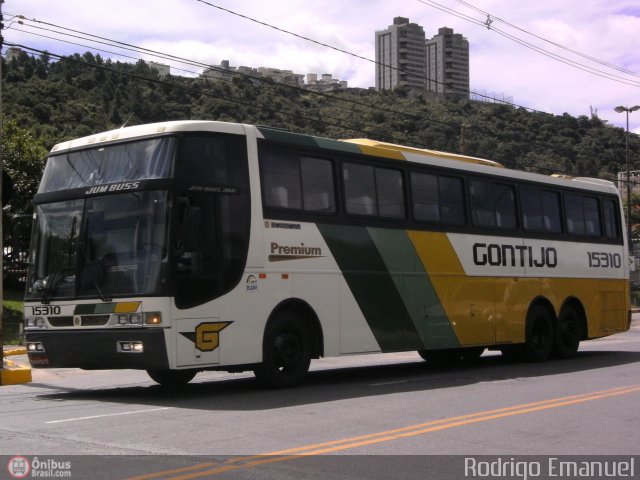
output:
[[[427,91],[469,98],[469,41],[442,27],[425,45]]]

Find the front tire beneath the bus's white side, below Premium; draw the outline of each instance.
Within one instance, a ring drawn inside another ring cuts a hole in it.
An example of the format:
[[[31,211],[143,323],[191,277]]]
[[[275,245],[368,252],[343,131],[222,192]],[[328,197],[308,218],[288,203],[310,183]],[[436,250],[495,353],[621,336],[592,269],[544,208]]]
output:
[[[256,378],[268,388],[300,385],[311,363],[309,346],[302,318],[293,312],[278,313],[265,332],[262,363],[254,369]]]

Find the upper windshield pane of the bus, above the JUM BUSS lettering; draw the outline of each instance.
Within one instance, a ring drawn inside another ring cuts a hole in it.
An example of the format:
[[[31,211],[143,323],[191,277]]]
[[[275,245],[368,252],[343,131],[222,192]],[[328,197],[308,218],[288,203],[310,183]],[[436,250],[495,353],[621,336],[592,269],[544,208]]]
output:
[[[54,154],[38,193],[169,178],[176,143],[175,137],[163,137]]]

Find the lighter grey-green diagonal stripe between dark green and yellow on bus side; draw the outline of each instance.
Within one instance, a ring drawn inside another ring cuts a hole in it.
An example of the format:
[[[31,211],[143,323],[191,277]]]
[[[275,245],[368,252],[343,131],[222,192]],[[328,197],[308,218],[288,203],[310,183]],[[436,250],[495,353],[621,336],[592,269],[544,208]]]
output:
[[[418,331],[423,348],[454,348],[460,343],[440,299],[405,230],[369,228],[378,252]]]

